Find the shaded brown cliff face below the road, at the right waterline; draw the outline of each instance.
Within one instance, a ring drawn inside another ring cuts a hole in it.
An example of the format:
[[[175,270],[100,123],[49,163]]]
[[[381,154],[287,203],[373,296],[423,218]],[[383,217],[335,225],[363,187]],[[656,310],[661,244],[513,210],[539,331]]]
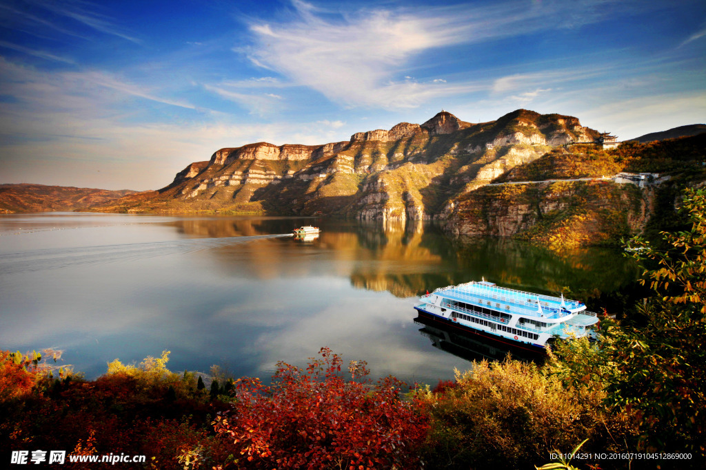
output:
[[[450,206],[446,228],[556,248],[611,243],[644,228],[653,200],[650,188],[604,181],[486,186]]]

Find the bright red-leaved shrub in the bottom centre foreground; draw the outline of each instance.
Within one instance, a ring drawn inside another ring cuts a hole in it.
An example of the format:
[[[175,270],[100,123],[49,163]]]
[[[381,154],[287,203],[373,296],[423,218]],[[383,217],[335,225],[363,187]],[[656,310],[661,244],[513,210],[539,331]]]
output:
[[[342,359],[321,348],[306,372],[280,362],[272,385],[241,379],[232,413],[219,413],[215,430],[236,446],[237,465],[253,469],[419,468],[417,448],[426,418],[402,399],[405,384],[381,379],[375,386],[364,361]]]

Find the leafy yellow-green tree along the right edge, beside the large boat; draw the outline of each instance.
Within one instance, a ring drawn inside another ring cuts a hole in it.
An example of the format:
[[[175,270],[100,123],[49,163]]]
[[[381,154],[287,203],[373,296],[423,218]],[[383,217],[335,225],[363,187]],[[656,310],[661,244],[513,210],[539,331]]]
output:
[[[653,295],[639,323],[601,321],[597,347],[559,345],[554,369],[566,381],[604,388],[605,403],[633,416],[638,448],[706,457],[706,191],[686,190],[690,229],[662,233],[666,249],[634,238]]]

